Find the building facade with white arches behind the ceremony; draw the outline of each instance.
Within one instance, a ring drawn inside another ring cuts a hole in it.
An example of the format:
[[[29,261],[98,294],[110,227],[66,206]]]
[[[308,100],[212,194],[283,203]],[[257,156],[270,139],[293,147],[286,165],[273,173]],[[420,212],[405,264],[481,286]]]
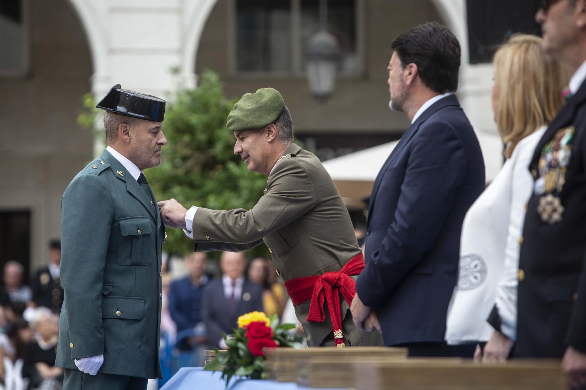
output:
[[[408,121],[388,107],[389,45],[401,31],[437,20],[462,43],[458,97],[466,113],[479,134],[496,137],[492,66],[467,60],[465,0],[331,1],[343,64],[325,102],[314,100],[305,76],[314,0],[13,3],[0,6],[0,31],[11,37],[0,33],[2,262],[45,264],[47,243],[60,235],[63,191],[104,146],[76,122],[81,96],[101,97],[114,84],[169,97],[196,87],[209,68],[228,97],[275,87],[299,138],[327,159],[400,137]]]

